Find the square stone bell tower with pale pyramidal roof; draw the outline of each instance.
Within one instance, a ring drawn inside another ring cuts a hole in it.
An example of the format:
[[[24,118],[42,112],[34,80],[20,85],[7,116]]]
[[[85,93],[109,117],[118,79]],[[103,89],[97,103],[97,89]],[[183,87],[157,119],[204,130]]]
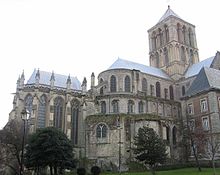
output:
[[[158,23],[148,30],[150,66],[163,69],[179,80],[199,62],[195,26],[182,20],[168,6]]]

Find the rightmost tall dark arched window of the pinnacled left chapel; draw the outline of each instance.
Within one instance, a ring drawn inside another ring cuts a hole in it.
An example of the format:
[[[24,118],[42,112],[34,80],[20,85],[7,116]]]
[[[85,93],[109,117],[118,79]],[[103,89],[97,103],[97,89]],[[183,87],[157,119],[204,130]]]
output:
[[[73,100],[71,102],[71,118],[72,118],[71,140],[74,145],[78,143],[79,107],[80,107],[80,102],[78,100]]]

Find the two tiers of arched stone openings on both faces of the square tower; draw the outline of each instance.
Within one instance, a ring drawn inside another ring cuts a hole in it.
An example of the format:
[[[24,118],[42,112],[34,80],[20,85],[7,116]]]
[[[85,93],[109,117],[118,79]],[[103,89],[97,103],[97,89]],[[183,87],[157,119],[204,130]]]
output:
[[[170,48],[172,47],[175,47],[176,53],[179,54],[180,61],[185,63],[189,60],[188,64],[190,65],[195,63],[195,57],[198,56],[198,52],[194,50],[196,47],[195,37],[191,27],[187,29],[185,25],[181,26],[180,23],[177,23],[176,31],[177,43],[175,46],[169,43],[170,38],[167,25],[152,32],[152,50],[150,53],[150,64],[152,66],[157,68],[168,66],[169,63],[172,62],[172,60],[169,60]],[[178,58],[177,55],[175,57]]]

